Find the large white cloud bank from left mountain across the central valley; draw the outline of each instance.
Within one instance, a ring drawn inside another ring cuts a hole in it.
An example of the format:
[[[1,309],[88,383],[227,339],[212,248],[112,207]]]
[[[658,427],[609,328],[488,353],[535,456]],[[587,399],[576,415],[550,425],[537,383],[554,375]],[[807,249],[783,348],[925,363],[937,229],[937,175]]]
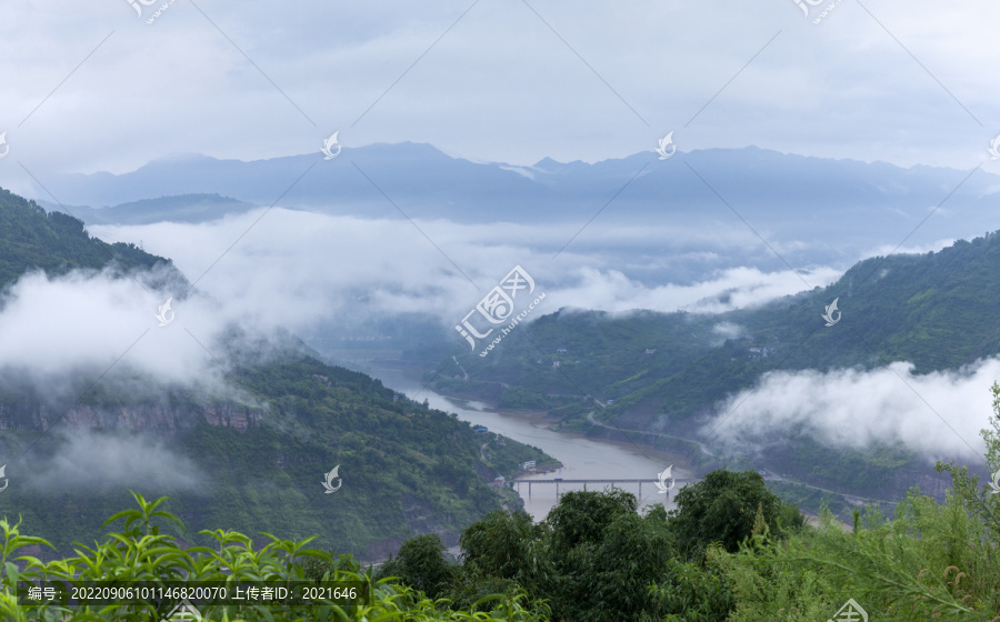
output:
[[[624,263],[628,270],[628,262],[620,251],[622,232],[613,228],[590,228],[553,259],[572,233],[563,227],[433,221],[417,222],[418,231],[406,220],[286,209],[270,210],[253,225],[262,214],[202,224],[91,227],[109,242],[142,240],[149,251],[173,259],[194,288],[187,295],[156,289],[152,283],[164,281],[160,272],[129,278],[110,269],[52,278],[29,272],[0,295],[0,370],[27,375],[50,394],[72,392],[60,383],[81,372],[104,383],[127,370],[161,384],[213,382],[226,374],[218,337],[232,327],[248,334],[278,328],[308,333],[319,327],[348,335],[358,318],[417,312],[450,330],[514,264],[547,292],[542,313],[561,307],[718,312],[804,287],[788,271],[747,268],[709,269],[702,282],[662,282],[671,268],[656,264],[657,250],[693,243],[690,232],[676,229],[647,230],[629,247],[632,257],[653,258],[640,279],[616,268]],[[714,242],[733,243],[752,240],[730,231]],[[612,250],[593,251],[594,245]],[[701,259],[712,262],[716,255]],[[832,269],[812,274],[818,284],[837,275]],[[726,303],[718,300],[722,294]],[[169,297],[174,319],[159,327],[154,315]]]

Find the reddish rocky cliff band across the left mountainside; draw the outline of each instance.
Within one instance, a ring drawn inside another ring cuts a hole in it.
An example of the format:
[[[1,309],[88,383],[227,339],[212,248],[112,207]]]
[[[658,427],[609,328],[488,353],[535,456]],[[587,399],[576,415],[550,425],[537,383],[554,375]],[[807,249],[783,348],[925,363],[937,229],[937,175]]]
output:
[[[74,405],[53,409],[44,404],[8,404],[0,402],[0,430],[47,430],[62,420],[73,428],[106,428],[120,430],[159,430],[174,432],[192,428],[200,420],[211,425],[247,430],[260,424],[262,409],[237,403],[211,405],[137,404],[116,408]]]

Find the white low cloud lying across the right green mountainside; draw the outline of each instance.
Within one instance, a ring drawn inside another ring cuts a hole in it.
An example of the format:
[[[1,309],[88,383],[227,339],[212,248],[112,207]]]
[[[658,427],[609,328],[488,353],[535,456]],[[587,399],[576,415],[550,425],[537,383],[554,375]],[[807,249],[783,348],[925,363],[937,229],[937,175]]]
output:
[[[751,390],[717,405],[702,430],[732,450],[748,450],[800,430],[828,447],[902,442],[931,459],[980,461],[980,430],[992,412],[989,388],[1000,361],[980,360],[958,371],[926,375],[896,362],[870,371],[842,369],[770,372]]]

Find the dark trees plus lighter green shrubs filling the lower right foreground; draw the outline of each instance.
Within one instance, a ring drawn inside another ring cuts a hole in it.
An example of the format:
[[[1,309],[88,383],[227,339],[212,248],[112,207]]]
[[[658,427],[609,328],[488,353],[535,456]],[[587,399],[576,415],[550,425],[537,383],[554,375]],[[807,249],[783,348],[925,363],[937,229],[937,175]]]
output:
[[[709,474],[670,515],[637,514],[628,493],[571,492],[540,524],[503,512],[473,524],[462,564],[422,535],[380,576],[461,611],[524,598],[552,621],[812,622],[849,600],[880,621],[996,621],[1000,503],[964,469],[940,469],[954,484],[946,503],[913,491],[893,520],[872,510],[851,528],[829,512],[804,525],[753,472]]]

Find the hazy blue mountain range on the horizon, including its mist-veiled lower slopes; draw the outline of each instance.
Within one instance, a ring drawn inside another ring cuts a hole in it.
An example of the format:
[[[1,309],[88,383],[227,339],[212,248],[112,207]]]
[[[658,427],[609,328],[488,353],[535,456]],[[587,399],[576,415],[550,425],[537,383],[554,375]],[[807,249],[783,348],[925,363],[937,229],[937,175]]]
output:
[[[47,188],[88,224],[198,222],[272,204],[364,218],[394,219],[402,211],[411,219],[463,223],[583,224],[599,213],[591,227],[729,228],[763,248],[759,234],[793,263],[847,268],[876,249],[928,245],[992,229],[1000,177],[756,147],[678,152],[669,160],[653,151],[596,163],[547,158],[514,167],[406,142],[344,148],[331,161],[319,151],[251,162],[178,156],[122,174],[59,174]],[[38,190],[41,204],[58,207]],[[183,194],[196,197],[182,200]],[[222,197],[206,197],[212,194]],[[167,204],[142,203],[163,197],[170,198]],[[136,215],[142,211],[149,213]],[[918,229],[931,213],[933,227]],[[678,250],[669,241],[659,248],[661,254]],[[733,264],[747,261],[743,255]],[[754,261],[764,268],[761,262],[783,267],[767,249]]]

